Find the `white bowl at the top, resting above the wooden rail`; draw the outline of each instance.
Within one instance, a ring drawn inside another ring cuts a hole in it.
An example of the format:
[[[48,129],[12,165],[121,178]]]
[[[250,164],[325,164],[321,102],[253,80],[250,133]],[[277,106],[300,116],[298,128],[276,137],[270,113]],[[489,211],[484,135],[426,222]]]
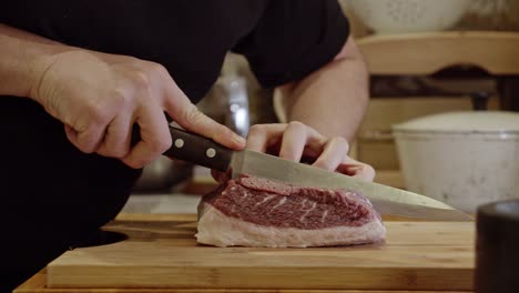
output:
[[[360,21],[376,33],[441,31],[461,19],[470,0],[349,0]]]

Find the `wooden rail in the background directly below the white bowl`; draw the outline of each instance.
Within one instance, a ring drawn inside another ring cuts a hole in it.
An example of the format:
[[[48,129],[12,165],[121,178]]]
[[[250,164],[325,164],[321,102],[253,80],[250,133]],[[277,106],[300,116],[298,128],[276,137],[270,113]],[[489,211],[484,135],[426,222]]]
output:
[[[471,64],[496,75],[519,74],[519,33],[445,31],[374,34],[357,40],[372,74],[432,74]]]

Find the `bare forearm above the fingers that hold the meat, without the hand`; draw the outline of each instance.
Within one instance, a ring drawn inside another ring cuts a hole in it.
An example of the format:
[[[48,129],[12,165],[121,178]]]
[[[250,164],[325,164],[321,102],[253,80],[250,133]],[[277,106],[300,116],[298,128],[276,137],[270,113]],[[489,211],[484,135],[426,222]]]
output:
[[[304,80],[284,87],[287,119],[301,121],[327,137],[353,140],[368,104],[368,73],[364,60],[346,44],[338,57]]]

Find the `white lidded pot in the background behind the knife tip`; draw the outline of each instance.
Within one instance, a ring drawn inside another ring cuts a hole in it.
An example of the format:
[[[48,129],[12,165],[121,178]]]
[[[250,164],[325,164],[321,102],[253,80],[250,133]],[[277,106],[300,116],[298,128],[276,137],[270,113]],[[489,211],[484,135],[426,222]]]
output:
[[[409,191],[470,213],[519,198],[519,113],[442,113],[393,131]]]

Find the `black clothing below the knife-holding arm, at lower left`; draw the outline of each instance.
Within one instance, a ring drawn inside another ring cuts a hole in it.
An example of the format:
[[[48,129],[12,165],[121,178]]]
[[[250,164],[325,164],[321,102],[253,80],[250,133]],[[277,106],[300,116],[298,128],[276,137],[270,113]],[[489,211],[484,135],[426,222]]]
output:
[[[7,292],[112,220],[141,171],[81,153],[31,100],[0,100],[0,292]]]

